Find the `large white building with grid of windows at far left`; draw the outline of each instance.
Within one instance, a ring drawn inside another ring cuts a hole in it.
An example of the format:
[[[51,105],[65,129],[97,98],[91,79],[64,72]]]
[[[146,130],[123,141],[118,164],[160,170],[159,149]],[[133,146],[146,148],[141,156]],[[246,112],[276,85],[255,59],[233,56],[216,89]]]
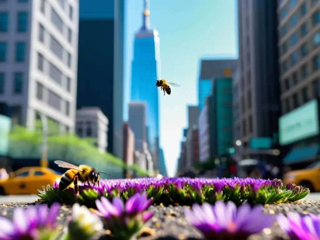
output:
[[[8,0],[0,9],[0,102],[29,129],[40,112],[73,131],[78,1]]]

